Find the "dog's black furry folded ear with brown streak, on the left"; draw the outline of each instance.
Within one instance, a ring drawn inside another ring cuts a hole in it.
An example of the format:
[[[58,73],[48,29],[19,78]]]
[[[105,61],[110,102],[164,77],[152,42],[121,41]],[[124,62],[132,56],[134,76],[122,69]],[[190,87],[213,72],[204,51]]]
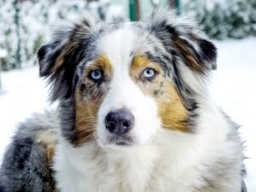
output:
[[[54,41],[38,49],[39,74],[51,84],[51,101],[73,94],[76,67],[89,41],[90,24],[83,20],[70,29],[55,32]]]

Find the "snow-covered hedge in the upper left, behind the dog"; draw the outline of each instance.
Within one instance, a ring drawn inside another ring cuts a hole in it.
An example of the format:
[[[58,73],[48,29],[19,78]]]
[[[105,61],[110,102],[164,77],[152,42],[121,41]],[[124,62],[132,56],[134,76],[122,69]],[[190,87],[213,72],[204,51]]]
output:
[[[0,0],[0,49],[7,49],[2,59],[3,70],[18,67],[17,45],[20,40],[21,67],[37,63],[36,52],[47,42],[55,26],[93,15],[98,20],[119,22],[127,20],[124,9],[110,0]],[[15,4],[17,3],[17,4]],[[19,12],[15,12],[15,6]],[[15,17],[16,14],[16,17]],[[20,38],[17,36],[17,22]]]

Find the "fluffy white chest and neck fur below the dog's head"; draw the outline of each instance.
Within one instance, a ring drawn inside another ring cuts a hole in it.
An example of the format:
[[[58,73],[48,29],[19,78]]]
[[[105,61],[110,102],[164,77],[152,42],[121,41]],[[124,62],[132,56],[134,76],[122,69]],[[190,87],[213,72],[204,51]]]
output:
[[[204,117],[205,119],[206,117]],[[211,118],[212,119],[212,118]],[[192,192],[210,174],[205,163],[227,155],[232,143],[223,118],[199,123],[196,134],[160,130],[147,144],[102,149],[96,142],[73,148],[61,140],[55,179],[61,192]],[[209,121],[212,121],[209,123]]]

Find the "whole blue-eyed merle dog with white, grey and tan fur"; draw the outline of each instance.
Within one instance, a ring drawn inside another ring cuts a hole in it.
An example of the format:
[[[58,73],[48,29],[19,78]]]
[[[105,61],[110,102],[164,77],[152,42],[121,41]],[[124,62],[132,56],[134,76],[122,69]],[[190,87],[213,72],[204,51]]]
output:
[[[245,192],[238,126],[208,94],[217,49],[188,20],[82,20],[38,50],[55,111],[4,156],[2,192]]]

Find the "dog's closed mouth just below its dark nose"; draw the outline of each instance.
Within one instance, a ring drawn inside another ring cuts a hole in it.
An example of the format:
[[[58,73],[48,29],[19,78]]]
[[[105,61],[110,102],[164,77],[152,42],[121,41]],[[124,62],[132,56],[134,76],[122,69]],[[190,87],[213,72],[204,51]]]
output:
[[[111,136],[108,137],[108,143],[109,144],[114,144],[120,147],[129,147],[135,144],[135,140],[131,136]]]

